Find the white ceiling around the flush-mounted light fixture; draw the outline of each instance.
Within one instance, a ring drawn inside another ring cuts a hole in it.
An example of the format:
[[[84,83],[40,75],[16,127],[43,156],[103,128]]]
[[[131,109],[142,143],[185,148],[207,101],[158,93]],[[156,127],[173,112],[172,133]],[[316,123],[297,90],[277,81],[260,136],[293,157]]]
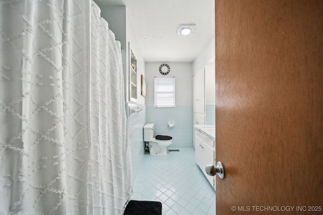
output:
[[[94,0],[102,6],[126,6],[146,62],[192,62],[214,38],[214,0]],[[109,20],[108,20],[109,22]],[[192,35],[177,34],[180,24],[195,23]]]

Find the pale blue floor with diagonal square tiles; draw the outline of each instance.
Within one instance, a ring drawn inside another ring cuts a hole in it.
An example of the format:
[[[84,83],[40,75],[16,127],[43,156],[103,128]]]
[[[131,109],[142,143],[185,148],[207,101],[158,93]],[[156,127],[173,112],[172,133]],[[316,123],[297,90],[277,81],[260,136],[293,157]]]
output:
[[[216,192],[195,163],[194,150],[179,150],[166,157],[145,155],[132,199],[160,201],[165,215],[216,214]]]

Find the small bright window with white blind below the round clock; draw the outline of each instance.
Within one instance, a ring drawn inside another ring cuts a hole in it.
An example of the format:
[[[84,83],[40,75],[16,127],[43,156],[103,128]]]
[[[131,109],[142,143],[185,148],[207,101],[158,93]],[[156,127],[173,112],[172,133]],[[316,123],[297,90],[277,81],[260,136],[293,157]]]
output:
[[[175,107],[175,77],[155,77],[154,107]]]

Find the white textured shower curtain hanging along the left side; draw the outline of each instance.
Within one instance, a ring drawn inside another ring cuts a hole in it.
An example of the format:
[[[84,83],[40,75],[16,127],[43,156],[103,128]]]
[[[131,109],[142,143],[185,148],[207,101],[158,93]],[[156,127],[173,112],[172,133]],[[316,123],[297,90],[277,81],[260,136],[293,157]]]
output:
[[[0,2],[0,214],[122,214],[121,47],[86,0]]]

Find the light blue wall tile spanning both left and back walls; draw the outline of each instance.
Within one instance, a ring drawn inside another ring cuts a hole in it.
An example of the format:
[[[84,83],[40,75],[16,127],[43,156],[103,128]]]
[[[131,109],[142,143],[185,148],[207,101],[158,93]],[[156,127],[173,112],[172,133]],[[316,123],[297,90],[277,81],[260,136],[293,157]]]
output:
[[[126,113],[128,116],[126,103]],[[191,148],[193,144],[193,106],[178,105],[176,108],[154,108],[153,105],[141,105],[142,111],[128,116],[129,141],[131,146],[132,184],[134,185],[144,158],[143,126],[154,123],[155,135],[173,137],[169,148]],[[174,121],[173,128],[168,121]]]

